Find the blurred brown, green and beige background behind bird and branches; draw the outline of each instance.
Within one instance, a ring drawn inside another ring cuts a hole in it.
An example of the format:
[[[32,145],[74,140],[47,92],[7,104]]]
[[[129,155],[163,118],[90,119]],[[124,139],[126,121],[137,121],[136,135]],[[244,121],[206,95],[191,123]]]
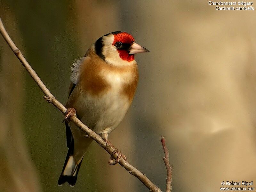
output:
[[[163,191],[161,135],[173,192],[256,183],[255,11],[216,11],[199,0],[1,0],[0,17],[62,104],[73,60],[104,34],[132,34],[150,53],[136,55],[138,89],[109,140]],[[148,191],[120,165],[108,165],[95,142],[76,186],[57,186],[68,150],[63,116],[2,37],[0,89],[0,191]]]

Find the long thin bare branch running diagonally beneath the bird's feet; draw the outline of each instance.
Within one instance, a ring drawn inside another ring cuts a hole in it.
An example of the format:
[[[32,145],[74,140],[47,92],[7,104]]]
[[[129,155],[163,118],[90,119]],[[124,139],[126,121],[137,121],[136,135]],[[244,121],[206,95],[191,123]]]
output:
[[[39,88],[44,92],[45,96],[44,99],[48,101],[49,103],[52,103],[56,108],[58,108],[63,114],[67,111],[67,109],[52,95],[52,93],[47,89],[47,87],[44,85],[42,80],[37,76],[36,72],[33,70],[33,68],[28,64],[27,60],[24,58],[20,50],[17,48],[17,46],[13,43],[12,39],[6,32],[4,28],[4,24],[0,18],[0,33],[4,37],[4,40],[7,42],[7,44],[11,47],[14,54],[17,56],[17,58],[20,60],[22,65],[27,69],[29,75],[35,80],[36,84],[39,86]],[[88,137],[91,137],[93,140],[95,140],[102,148],[104,148],[110,155],[115,152],[115,149],[113,149],[107,142],[105,142],[97,133],[93,132],[90,128],[85,126],[76,116],[72,117],[72,122],[76,124]],[[168,151],[168,150],[167,150]],[[115,153],[112,155],[115,159],[117,158],[118,154]],[[122,157],[119,161],[119,164],[123,166],[129,173],[137,177],[150,191],[152,192],[162,192],[160,188],[158,188],[151,180],[149,180],[145,174],[140,172],[138,169],[133,167],[131,164],[129,164],[127,161],[125,161]]]

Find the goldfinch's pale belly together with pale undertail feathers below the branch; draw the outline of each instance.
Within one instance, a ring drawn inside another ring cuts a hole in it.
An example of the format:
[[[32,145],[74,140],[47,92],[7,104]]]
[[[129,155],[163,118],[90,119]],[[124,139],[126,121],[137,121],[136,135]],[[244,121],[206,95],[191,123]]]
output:
[[[78,118],[94,132],[102,134],[113,131],[122,121],[129,108],[129,101],[115,91],[108,92],[100,98],[89,94],[80,94],[74,108],[83,108],[83,114],[81,110],[77,111]],[[85,138],[85,133],[72,122],[70,128],[74,137],[74,158],[78,162],[92,139]]]

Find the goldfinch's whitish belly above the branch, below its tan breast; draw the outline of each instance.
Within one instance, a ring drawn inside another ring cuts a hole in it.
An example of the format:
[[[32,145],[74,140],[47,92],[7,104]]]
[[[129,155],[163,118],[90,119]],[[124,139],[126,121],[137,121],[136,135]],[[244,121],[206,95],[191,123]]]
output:
[[[120,89],[110,89],[104,95],[80,94],[74,108],[83,108],[78,118],[97,134],[109,133],[122,121],[129,108],[128,99]]]

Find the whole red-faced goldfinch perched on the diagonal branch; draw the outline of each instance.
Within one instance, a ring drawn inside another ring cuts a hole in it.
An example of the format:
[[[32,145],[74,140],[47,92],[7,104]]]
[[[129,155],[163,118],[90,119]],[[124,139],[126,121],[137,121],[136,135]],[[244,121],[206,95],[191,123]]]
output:
[[[58,185],[74,186],[84,154],[92,143],[70,118],[76,116],[103,140],[122,121],[138,84],[138,64],[134,54],[149,52],[135,43],[132,35],[122,31],[108,33],[93,43],[84,57],[71,66],[70,87],[65,116],[68,154]],[[115,148],[114,148],[115,149]],[[116,149],[115,149],[116,150]],[[116,164],[124,154],[120,151]]]

